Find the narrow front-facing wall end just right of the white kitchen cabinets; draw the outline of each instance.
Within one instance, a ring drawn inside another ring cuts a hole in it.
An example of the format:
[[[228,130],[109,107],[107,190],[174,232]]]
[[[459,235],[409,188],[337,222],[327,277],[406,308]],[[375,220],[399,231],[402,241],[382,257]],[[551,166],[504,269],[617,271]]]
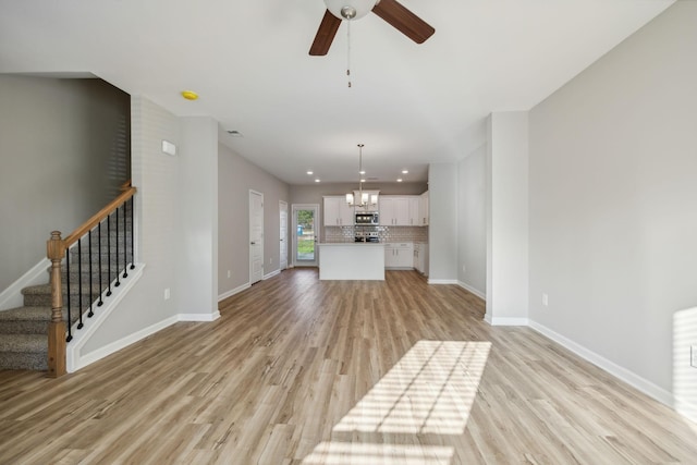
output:
[[[428,167],[428,282],[457,283],[457,164]]]

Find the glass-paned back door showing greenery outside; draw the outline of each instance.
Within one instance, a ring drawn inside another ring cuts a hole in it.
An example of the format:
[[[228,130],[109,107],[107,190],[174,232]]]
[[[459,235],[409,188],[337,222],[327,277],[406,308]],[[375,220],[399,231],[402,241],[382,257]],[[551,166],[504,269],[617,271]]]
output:
[[[316,267],[319,264],[319,205],[293,205],[293,265]]]

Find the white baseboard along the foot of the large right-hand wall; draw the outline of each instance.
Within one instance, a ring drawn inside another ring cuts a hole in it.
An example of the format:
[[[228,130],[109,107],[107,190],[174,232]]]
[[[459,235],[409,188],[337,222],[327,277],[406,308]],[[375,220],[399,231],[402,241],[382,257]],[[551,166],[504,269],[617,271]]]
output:
[[[610,375],[620,378],[622,381],[626,382],[627,384],[638,389],[639,391],[644,392],[645,394],[656,399],[657,401],[659,401],[662,404],[668,405],[669,407],[673,407],[673,394],[667,390],[664,390],[663,388],[660,388],[656,384],[653,384],[651,381],[641,378],[640,376],[636,375],[633,371],[629,371],[628,369],[621,367],[620,365],[615,364],[614,362],[611,362],[609,359],[607,359],[606,357],[596,354],[595,352],[584,347],[583,345],[572,341],[571,339],[567,339],[561,334],[559,334],[558,332],[536,322],[530,320],[529,325],[530,328],[533,328],[535,331],[539,332],[540,334],[551,339],[552,341],[557,342],[558,344],[563,345],[564,347],[568,348],[571,352],[573,352],[574,354],[578,355],[582,358],[585,358],[586,360],[590,362],[594,365],[597,365],[598,367],[602,368],[603,370],[608,371]]]

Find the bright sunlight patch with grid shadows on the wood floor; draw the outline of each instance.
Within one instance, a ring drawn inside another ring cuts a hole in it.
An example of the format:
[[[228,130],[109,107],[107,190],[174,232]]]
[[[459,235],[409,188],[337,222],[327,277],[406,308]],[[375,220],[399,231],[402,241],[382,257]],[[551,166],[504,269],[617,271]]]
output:
[[[490,342],[418,341],[303,463],[449,464],[452,448],[419,440],[465,431],[490,348]]]

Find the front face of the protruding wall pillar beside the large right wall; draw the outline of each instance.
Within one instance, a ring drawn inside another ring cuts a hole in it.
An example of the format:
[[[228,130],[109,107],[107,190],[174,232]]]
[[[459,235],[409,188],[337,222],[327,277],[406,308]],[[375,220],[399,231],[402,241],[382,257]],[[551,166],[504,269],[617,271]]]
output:
[[[488,138],[485,318],[491,325],[527,325],[527,112],[491,113]]]

